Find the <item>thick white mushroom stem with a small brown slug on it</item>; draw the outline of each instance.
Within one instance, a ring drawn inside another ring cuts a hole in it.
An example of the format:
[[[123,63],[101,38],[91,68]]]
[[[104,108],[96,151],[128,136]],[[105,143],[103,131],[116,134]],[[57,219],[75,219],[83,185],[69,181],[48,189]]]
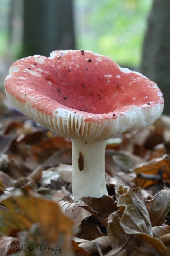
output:
[[[106,141],[72,138],[72,191],[74,200],[108,195],[105,180]]]

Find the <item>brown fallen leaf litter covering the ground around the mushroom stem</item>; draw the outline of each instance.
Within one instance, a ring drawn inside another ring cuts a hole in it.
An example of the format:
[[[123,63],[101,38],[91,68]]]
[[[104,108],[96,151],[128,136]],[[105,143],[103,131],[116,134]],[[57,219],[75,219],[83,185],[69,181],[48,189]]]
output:
[[[109,196],[74,202],[71,140],[0,94],[0,255],[170,255],[168,116],[108,140]]]

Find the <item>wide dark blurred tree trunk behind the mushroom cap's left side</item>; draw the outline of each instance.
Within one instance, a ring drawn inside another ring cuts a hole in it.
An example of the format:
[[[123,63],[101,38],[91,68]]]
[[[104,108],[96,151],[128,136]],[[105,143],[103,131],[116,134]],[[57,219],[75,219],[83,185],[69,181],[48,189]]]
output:
[[[75,49],[72,0],[24,0],[22,56]]]

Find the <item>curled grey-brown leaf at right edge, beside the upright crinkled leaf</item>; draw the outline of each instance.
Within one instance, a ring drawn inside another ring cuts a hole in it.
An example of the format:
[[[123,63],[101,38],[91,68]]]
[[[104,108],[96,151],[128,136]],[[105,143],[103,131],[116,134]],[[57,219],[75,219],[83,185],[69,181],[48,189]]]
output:
[[[146,205],[149,212],[152,226],[160,226],[164,222],[164,217],[170,209],[170,189],[161,190],[153,200]]]

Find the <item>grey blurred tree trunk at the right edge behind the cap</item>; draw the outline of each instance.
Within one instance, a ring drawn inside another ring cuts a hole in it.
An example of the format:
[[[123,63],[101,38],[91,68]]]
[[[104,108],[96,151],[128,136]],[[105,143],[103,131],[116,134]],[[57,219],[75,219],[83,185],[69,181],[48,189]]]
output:
[[[143,43],[141,72],[162,90],[170,115],[170,0],[154,0]]]

